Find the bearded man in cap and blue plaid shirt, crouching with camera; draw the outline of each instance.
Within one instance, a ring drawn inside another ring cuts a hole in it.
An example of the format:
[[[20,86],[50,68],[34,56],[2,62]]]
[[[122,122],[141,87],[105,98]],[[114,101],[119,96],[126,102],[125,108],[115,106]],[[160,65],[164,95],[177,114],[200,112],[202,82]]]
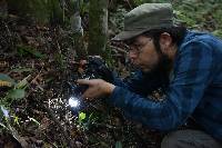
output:
[[[151,129],[171,131],[162,148],[222,148],[222,41],[173,22],[170,3],[145,3],[124,18],[124,31],[113,40],[129,45],[139,68],[125,81],[79,80],[89,85],[84,98],[109,102]],[[162,101],[148,95],[164,88]],[[203,130],[178,130],[192,117]]]

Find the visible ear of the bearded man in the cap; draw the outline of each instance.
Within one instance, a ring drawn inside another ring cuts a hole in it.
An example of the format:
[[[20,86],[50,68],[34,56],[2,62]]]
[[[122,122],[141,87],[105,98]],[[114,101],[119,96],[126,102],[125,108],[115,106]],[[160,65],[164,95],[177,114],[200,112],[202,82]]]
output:
[[[163,32],[160,34],[160,48],[163,50],[170,49],[172,46],[172,37],[168,32]],[[164,51],[163,51],[164,52]]]

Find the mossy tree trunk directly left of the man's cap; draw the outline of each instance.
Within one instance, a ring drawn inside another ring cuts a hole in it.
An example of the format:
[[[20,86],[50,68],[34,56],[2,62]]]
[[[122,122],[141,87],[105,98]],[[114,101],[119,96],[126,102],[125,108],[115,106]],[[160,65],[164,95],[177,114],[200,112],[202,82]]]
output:
[[[108,0],[90,0],[89,55],[105,55],[108,36]]]

